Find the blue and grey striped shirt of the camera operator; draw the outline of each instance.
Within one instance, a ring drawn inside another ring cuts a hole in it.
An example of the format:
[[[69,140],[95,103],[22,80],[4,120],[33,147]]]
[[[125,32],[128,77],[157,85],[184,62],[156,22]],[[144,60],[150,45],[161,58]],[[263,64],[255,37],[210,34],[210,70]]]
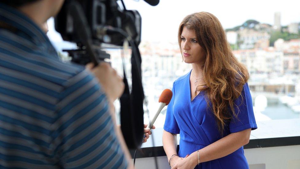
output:
[[[0,4],[1,168],[126,168],[108,105],[89,71]]]

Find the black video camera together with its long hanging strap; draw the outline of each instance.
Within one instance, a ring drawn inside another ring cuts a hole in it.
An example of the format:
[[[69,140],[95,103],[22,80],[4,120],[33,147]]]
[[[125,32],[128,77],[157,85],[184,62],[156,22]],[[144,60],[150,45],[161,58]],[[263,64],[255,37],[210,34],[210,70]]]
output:
[[[159,0],[145,0],[155,6]],[[118,3],[119,2],[119,3]],[[65,41],[75,42],[76,50],[65,50],[79,64],[110,58],[102,44],[132,48],[132,90],[129,92],[124,71],[125,91],[120,98],[121,129],[128,148],[142,143],[144,128],[144,91],[141,80],[141,16],[136,10],[126,10],[123,0],[65,0],[55,18],[55,29]],[[124,63],[123,63],[124,65]]]

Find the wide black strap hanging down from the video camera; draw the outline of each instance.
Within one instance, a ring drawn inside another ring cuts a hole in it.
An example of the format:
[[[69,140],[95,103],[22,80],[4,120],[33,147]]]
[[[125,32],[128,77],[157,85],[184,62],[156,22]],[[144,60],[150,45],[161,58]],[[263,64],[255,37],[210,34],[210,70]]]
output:
[[[136,44],[134,43],[134,45]],[[143,141],[142,135],[144,131],[144,90],[141,78],[141,61],[142,60],[137,45],[132,46],[132,91],[130,93],[125,70],[123,70],[125,90],[123,95],[120,97],[121,130],[128,148],[131,149],[140,147]]]

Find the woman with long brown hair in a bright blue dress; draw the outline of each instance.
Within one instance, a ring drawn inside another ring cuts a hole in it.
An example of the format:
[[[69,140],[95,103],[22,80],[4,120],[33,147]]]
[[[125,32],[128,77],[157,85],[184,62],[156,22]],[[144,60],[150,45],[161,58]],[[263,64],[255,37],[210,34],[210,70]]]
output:
[[[249,168],[243,146],[257,125],[246,67],[232,54],[219,20],[208,12],[186,16],[178,42],[192,70],[173,83],[167,109],[163,145],[170,166]]]

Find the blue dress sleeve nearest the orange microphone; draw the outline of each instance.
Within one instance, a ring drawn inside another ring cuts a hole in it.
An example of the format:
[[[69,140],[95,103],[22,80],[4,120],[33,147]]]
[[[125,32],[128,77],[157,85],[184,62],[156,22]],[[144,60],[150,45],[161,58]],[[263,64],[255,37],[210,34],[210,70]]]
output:
[[[164,123],[164,130],[168,131],[169,133],[179,134],[180,129],[178,127],[177,121],[173,114],[173,105],[174,105],[174,98],[175,98],[174,83],[173,83],[173,87],[172,87],[172,93],[173,93],[172,99],[171,99],[170,103],[168,104],[168,108],[167,108],[167,114],[166,114],[166,119],[165,119],[165,123]]]

